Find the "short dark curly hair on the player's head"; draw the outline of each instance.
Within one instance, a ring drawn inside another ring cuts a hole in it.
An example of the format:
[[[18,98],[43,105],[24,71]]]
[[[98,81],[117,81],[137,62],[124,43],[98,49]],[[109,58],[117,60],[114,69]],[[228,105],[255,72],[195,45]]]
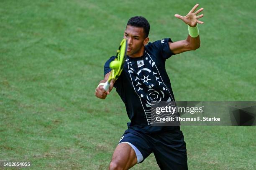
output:
[[[128,20],[127,25],[133,26],[133,27],[141,27],[144,29],[146,37],[148,37],[150,25],[148,23],[148,20],[141,16],[135,16]],[[126,25],[126,27],[127,27]]]

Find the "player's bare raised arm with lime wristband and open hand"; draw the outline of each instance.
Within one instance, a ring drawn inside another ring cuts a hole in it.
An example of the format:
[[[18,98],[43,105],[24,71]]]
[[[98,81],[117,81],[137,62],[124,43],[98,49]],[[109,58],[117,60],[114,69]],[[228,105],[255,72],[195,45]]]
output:
[[[204,15],[203,14],[197,15],[197,14],[199,14],[204,9],[200,8],[195,12],[198,6],[199,4],[195,5],[186,16],[181,16],[178,14],[174,15],[176,18],[179,18],[182,21],[184,21],[184,23],[186,23],[189,28],[189,35],[187,36],[186,40],[169,42],[169,47],[174,54],[179,54],[179,53],[190,51],[190,50],[196,50],[197,48],[200,47],[200,37],[199,37],[199,32],[197,32],[198,31],[197,24],[204,23],[198,20],[199,18],[202,18]]]

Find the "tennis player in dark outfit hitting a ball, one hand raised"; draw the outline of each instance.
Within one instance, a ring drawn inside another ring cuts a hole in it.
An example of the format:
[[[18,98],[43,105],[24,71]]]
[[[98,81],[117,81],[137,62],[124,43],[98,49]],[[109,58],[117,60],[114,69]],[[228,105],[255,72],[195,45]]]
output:
[[[203,8],[196,11],[198,6],[195,5],[186,16],[174,15],[187,24],[189,33],[186,40],[177,42],[163,38],[151,43],[148,21],[139,16],[128,20],[124,32],[128,49],[123,72],[105,92],[103,85],[110,75],[109,64],[115,59],[115,56],[110,57],[104,66],[105,78],[95,92],[98,98],[105,99],[115,87],[131,120],[115,148],[110,170],[127,170],[142,163],[151,153],[161,170],[187,170],[186,144],[179,126],[152,126],[146,113],[151,111],[152,101],[174,101],[165,61],[172,55],[200,47],[198,24],[203,22],[198,19],[203,14],[198,14]]]

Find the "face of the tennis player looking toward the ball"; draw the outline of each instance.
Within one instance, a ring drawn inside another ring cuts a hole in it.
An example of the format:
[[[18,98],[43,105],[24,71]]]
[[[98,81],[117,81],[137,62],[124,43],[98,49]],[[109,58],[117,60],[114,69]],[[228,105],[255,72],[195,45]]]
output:
[[[139,57],[143,55],[144,48],[142,47],[148,42],[148,37],[145,38],[143,28],[127,25],[123,38],[127,40],[127,55],[131,57]]]

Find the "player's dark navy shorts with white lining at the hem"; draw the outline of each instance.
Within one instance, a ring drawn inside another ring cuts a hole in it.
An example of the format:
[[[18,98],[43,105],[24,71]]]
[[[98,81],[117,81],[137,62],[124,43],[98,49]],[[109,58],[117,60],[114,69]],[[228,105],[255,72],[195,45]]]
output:
[[[133,149],[139,150],[136,155],[140,153],[143,158],[138,163],[154,153],[161,170],[187,170],[186,143],[179,126],[172,131],[151,134],[128,129],[119,143],[131,143]]]

